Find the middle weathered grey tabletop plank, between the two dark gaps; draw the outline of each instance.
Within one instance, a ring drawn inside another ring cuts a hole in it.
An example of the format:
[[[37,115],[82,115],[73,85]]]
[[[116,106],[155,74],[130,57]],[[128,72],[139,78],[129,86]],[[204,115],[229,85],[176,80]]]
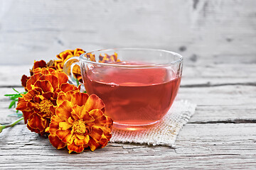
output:
[[[23,88],[16,88],[22,91]],[[14,92],[11,88],[0,88],[0,94]],[[256,120],[256,86],[213,86],[181,88],[176,100],[185,99],[197,104],[196,113],[189,123],[214,121]],[[10,123],[15,117],[9,110],[9,98],[0,96],[0,123]]]

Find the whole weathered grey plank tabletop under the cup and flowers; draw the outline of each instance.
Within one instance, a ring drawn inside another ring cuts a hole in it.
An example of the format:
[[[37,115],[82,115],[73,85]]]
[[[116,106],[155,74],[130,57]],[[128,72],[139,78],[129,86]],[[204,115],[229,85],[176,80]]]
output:
[[[31,66],[1,66],[0,123],[11,123],[11,87],[23,91]],[[23,123],[0,134],[0,169],[256,169],[256,56],[197,62],[185,58],[176,100],[197,104],[176,148],[109,143],[95,152],[68,154]]]

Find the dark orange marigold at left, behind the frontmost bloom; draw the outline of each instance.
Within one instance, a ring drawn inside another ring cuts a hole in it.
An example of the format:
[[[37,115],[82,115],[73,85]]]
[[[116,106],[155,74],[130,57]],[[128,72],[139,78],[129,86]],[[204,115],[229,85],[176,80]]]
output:
[[[18,98],[16,109],[22,111],[27,127],[32,132],[46,134],[50,118],[55,115],[57,97],[60,91],[79,91],[67,83],[68,76],[55,69],[36,68],[26,81],[27,94]]]

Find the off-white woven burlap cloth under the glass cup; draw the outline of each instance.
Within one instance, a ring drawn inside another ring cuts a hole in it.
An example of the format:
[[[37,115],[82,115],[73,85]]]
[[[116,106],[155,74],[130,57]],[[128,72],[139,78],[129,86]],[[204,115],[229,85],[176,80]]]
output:
[[[196,105],[188,101],[174,101],[169,112],[159,123],[146,130],[112,130],[110,142],[130,142],[147,145],[175,147],[174,142],[181,130],[196,111]]]

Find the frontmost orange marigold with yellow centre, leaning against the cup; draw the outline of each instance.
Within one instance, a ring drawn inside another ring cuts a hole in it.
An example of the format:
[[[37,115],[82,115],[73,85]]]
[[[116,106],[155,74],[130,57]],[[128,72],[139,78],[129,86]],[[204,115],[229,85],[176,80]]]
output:
[[[68,91],[60,94],[58,107],[51,118],[49,140],[53,147],[68,147],[69,153],[92,151],[110,141],[113,121],[107,117],[105,104],[92,94]]]

